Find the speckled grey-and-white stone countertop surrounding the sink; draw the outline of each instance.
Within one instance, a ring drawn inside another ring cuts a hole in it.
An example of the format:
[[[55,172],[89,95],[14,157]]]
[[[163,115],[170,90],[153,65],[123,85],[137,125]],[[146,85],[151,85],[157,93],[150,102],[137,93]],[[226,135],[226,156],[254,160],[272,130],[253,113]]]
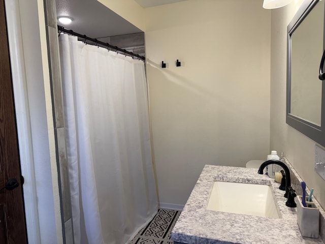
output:
[[[216,180],[272,186],[282,218],[207,210],[209,194]],[[320,238],[307,238],[300,234],[297,208],[285,206],[284,192],[278,188],[274,179],[257,174],[257,169],[206,165],[172,231],[172,239],[188,244],[323,243]]]

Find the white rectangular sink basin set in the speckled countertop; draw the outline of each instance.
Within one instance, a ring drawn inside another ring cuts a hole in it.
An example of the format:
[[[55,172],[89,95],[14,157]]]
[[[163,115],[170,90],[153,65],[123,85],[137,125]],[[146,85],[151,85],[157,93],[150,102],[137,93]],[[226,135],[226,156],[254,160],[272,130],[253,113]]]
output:
[[[267,185],[214,181],[207,209],[280,218],[273,199],[272,188]]]

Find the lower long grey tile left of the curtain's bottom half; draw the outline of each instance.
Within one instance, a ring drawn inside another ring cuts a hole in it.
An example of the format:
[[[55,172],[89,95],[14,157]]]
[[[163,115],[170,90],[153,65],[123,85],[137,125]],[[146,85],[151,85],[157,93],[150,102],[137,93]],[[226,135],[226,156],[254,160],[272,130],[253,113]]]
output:
[[[60,181],[62,194],[63,221],[66,222],[72,217],[71,199],[69,187],[69,168],[66,151],[66,136],[64,128],[56,129],[57,149],[60,167]]]

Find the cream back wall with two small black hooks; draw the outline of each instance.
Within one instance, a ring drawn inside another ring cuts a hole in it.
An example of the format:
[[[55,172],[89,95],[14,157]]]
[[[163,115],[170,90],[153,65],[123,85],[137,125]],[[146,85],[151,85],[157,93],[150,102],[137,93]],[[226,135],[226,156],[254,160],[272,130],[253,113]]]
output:
[[[205,164],[269,154],[271,13],[255,0],[189,0],[146,14],[159,202],[182,207]]]

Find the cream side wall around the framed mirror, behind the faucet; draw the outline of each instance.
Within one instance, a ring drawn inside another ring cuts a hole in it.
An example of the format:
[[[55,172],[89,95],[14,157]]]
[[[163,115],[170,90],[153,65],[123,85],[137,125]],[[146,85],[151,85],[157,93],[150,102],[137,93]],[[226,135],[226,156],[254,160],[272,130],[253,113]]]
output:
[[[271,149],[284,151],[307,187],[325,207],[325,181],[314,171],[315,142],[285,123],[287,25],[303,3],[295,0],[271,12]]]

